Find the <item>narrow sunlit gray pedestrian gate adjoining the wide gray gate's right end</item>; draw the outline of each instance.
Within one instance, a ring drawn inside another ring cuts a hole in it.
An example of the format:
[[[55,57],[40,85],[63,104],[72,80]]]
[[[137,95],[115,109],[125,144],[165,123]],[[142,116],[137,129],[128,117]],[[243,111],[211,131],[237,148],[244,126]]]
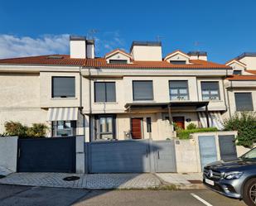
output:
[[[156,172],[176,172],[176,156],[174,141],[154,141]]]

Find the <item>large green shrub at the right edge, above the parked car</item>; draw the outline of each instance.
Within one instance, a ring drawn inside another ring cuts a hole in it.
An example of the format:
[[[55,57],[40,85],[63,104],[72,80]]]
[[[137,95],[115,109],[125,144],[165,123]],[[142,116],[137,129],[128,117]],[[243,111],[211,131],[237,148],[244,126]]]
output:
[[[237,144],[252,147],[256,142],[256,114],[235,113],[233,117],[225,120],[225,131],[238,131]]]

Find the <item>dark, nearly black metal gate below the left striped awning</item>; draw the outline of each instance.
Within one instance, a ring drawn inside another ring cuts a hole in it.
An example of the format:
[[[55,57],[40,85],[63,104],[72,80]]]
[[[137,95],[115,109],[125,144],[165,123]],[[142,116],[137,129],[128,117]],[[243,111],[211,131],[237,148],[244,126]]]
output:
[[[18,172],[75,172],[75,137],[18,140]]]

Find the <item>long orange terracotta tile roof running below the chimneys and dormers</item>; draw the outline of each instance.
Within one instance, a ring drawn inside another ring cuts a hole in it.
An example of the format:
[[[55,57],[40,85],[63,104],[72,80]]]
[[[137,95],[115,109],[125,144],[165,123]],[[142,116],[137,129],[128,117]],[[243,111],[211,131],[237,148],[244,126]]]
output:
[[[190,65],[172,65],[167,61],[132,61],[132,64],[107,64],[105,58],[70,59],[70,55],[40,55],[0,60],[0,65],[77,65],[120,69],[231,69],[205,60],[190,60]]]

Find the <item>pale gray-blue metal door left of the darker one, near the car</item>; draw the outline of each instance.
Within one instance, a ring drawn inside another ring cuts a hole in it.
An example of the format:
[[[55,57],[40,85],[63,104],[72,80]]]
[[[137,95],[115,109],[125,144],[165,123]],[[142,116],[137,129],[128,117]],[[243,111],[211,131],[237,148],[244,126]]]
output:
[[[200,165],[204,166],[217,160],[215,136],[199,136]]]

